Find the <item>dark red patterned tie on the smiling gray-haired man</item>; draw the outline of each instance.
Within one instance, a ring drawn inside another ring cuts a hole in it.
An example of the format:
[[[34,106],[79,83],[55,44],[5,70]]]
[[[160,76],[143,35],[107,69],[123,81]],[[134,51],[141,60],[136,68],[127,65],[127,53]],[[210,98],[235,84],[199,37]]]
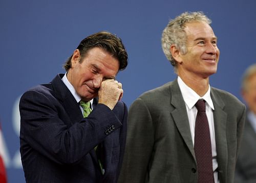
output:
[[[198,183],[214,183],[210,130],[205,113],[205,100],[198,100],[195,106],[198,110],[194,146],[197,159]]]

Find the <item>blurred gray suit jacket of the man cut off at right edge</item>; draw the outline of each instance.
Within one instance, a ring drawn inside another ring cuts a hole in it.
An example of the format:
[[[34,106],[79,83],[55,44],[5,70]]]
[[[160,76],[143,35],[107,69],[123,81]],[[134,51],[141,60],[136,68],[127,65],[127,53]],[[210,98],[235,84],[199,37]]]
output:
[[[256,133],[246,119],[244,134],[239,151],[236,175],[236,183],[255,183],[256,182]]]

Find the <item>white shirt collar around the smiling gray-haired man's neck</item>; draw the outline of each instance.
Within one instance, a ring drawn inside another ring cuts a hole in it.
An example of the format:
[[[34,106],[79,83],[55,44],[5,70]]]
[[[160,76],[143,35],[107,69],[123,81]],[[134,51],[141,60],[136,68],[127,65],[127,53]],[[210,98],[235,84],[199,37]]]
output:
[[[212,102],[211,97],[210,97],[210,85],[209,85],[207,92],[202,97],[200,97],[193,89],[189,88],[181,80],[180,76],[178,76],[178,85],[180,87],[182,97],[189,109],[193,108],[199,99],[204,99],[206,101],[206,103],[208,103],[210,108],[212,110],[214,110],[214,103]]]

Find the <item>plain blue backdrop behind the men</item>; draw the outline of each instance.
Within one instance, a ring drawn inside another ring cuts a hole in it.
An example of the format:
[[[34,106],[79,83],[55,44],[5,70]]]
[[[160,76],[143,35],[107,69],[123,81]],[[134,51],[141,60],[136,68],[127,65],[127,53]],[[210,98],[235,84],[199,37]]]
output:
[[[169,19],[184,11],[203,11],[212,20],[221,54],[210,84],[241,99],[241,75],[256,61],[254,0],[1,0],[0,120],[9,182],[25,182],[18,152],[20,95],[65,72],[62,64],[83,38],[109,31],[121,37],[129,53],[129,65],[117,80],[123,84],[123,101],[130,106],[144,91],[175,79],[160,39]]]

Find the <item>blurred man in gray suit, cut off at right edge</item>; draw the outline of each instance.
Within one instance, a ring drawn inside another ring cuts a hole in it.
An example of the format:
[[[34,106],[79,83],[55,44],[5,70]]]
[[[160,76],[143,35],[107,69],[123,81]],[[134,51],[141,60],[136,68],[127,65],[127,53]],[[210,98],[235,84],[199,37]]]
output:
[[[247,104],[241,150],[236,167],[236,183],[256,182],[256,64],[245,71],[242,81],[242,96]]]

